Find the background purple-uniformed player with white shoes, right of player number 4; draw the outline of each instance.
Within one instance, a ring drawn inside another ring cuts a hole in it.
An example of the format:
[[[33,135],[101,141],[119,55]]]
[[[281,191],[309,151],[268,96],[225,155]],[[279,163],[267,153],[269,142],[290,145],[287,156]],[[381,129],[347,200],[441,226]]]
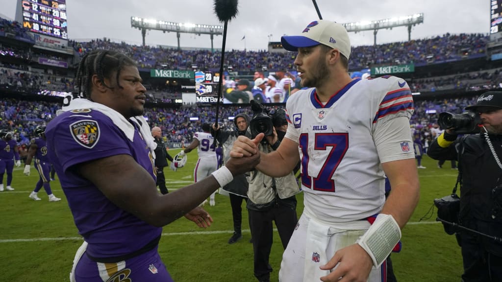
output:
[[[40,191],[43,186],[45,192],[47,192],[47,195],[49,195],[49,202],[59,202],[61,201],[61,199],[54,196],[51,190],[51,179],[49,177],[51,172],[51,164],[49,163],[49,158],[47,156],[48,150],[45,142],[45,128],[45,125],[39,125],[37,126],[37,128],[35,128],[35,135],[37,135],[37,137],[31,140],[30,149],[28,149],[28,158],[26,158],[24,174],[27,176],[30,175],[31,161],[33,158],[35,158],[35,169],[40,175],[40,178],[37,182],[37,185],[35,185],[35,189],[29,196],[30,199],[33,199],[35,201],[42,200],[38,197],[38,191]]]

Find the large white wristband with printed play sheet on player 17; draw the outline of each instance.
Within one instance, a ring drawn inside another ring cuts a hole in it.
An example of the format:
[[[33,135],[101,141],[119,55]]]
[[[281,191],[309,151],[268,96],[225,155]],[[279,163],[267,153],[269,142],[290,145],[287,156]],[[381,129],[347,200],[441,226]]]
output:
[[[379,214],[357,243],[369,254],[373,265],[379,267],[401,239],[401,228],[390,214]]]

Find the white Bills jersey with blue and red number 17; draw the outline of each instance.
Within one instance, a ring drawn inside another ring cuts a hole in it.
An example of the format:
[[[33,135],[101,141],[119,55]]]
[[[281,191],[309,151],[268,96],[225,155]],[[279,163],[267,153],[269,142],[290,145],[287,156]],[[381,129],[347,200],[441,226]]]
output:
[[[299,147],[304,212],[328,224],[380,212],[385,203],[381,163],[415,158],[409,124],[413,98],[406,81],[356,79],[327,103],[319,101],[315,88],[300,90],[286,109],[286,137]]]

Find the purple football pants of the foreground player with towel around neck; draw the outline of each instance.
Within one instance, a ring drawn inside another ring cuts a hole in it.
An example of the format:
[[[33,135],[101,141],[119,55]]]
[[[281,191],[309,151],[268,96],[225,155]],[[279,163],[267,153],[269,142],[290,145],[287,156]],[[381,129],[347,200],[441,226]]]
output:
[[[114,263],[91,260],[85,253],[75,268],[76,282],[174,282],[157,247],[133,258]]]

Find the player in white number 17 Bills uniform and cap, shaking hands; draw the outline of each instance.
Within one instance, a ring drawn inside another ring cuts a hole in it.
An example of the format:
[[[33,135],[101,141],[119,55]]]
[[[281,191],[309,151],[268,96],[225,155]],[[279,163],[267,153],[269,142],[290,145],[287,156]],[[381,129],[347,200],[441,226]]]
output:
[[[385,281],[385,259],[419,200],[410,88],[394,76],[351,79],[350,40],[340,24],[314,21],[281,42],[298,52],[301,84],[311,88],[289,98],[286,136],[257,166],[280,177],[302,165],[305,207],[279,280]],[[260,154],[262,135],[239,136],[230,156]]]

